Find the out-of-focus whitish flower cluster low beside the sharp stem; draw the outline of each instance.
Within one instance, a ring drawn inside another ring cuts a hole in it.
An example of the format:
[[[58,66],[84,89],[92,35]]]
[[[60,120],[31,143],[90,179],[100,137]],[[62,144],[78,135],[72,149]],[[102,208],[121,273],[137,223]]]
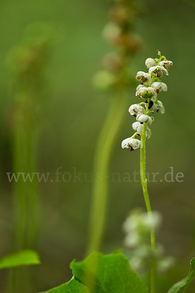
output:
[[[159,212],[153,211],[151,218],[141,209],[132,210],[123,223],[124,245],[131,250],[130,263],[135,271],[147,271],[151,257],[155,257],[156,269],[160,273],[166,272],[173,265],[173,257],[164,256],[162,245],[157,244],[155,250],[150,247],[150,231],[152,228],[159,230],[161,223]]]

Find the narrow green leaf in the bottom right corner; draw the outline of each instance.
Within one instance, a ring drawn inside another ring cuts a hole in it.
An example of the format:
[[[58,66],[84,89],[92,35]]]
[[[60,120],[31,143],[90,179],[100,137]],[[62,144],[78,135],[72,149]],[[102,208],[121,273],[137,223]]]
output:
[[[190,272],[188,276],[177,282],[171,289],[168,291],[168,293],[183,293],[186,291],[187,287],[190,285],[190,283],[195,278],[195,258],[193,258],[190,262]]]

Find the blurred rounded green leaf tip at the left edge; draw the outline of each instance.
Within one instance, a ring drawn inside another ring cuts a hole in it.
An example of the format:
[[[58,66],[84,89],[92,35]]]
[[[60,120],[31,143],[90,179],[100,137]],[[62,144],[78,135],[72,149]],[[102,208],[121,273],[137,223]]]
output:
[[[12,253],[1,258],[0,269],[38,265],[39,263],[39,256],[36,251],[25,250]]]

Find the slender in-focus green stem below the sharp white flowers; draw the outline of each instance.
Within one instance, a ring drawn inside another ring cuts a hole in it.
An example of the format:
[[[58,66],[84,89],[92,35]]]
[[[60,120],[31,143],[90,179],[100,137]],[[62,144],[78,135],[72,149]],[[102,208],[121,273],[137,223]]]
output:
[[[141,142],[143,144],[143,147],[140,148],[140,176],[141,176],[141,185],[143,189],[146,209],[148,212],[148,216],[152,218],[153,215],[152,215],[152,209],[150,205],[150,198],[148,195],[147,179],[146,179],[146,129],[147,129],[147,125],[144,124],[143,132],[141,135]],[[153,252],[155,251],[155,247],[156,247],[155,228],[153,225],[153,228],[151,229],[151,248]],[[151,293],[155,293],[155,257],[152,257],[151,259]]]

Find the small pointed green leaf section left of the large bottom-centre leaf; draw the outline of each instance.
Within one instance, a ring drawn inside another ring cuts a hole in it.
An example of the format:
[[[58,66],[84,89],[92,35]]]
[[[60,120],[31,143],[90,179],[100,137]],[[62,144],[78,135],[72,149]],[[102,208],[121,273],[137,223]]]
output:
[[[42,293],[90,293],[87,287],[73,277],[69,282]]]

